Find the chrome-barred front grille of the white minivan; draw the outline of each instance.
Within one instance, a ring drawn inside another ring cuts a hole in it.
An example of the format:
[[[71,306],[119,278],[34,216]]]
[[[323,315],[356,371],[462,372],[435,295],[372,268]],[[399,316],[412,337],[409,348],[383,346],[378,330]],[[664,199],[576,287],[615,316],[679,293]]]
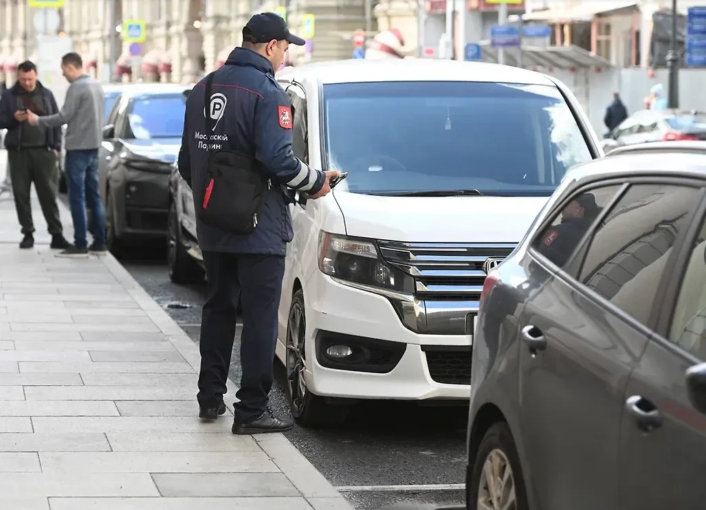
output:
[[[478,309],[488,259],[505,259],[515,244],[378,241],[383,259],[414,276],[424,321],[419,333],[462,335]],[[419,321],[418,321],[419,322]]]

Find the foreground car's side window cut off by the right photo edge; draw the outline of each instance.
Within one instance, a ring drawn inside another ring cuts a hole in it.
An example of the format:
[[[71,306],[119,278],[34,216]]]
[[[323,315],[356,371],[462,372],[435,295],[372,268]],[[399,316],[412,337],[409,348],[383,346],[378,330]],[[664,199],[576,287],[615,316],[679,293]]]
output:
[[[668,338],[706,361],[706,223],[686,263]]]

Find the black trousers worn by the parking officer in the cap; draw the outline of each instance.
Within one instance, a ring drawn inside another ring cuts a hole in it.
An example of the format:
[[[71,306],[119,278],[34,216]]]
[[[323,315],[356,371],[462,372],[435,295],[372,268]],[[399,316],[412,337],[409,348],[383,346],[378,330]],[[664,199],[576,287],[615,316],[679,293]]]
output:
[[[257,420],[268,406],[274,379],[277,308],[280,306],[285,257],[204,251],[208,300],[201,317],[201,374],[198,403],[217,407],[226,392],[235,339],[236,310],[241,300],[242,378],[234,404],[235,420]]]

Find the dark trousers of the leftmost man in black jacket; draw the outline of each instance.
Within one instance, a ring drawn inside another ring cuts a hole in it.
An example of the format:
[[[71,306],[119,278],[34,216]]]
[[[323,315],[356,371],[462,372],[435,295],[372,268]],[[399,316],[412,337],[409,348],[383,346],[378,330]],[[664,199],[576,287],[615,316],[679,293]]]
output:
[[[17,219],[22,233],[28,235],[35,232],[30,198],[30,189],[34,182],[44,220],[49,226],[49,234],[60,235],[61,219],[59,206],[56,205],[59,170],[56,168],[54,151],[47,148],[8,150],[7,159]]]

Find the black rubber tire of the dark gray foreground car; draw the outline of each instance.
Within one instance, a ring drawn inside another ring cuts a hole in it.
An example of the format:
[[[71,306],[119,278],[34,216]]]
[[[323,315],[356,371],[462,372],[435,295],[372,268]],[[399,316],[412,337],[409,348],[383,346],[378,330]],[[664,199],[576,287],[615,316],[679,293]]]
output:
[[[483,506],[479,504],[480,499],[489,498],[492,492],[486,481],[486,463],[498,463],[501,469],[500,476],[503,478],[505,470],[510,469],[510,477],[503,487],[501,487],[501,499],[498,505],[493,504],[492,499]],[[510,491],[510,483],[512,483],[513,491]],[[485,436],[481,440],[478,447],[475,462],[473,464],[469,483],[467,484],[467,506],[469,509],[474,508],[510,508],[513,510],[529,510],[527,504],[527,490],[525,489],[525,479],[522,477],[522,468],[520,466],[520,458],[517,456],[517,446],[513,434],[510,432],[510,427],[505,422],[497,422],[492,425]],[[514,492],[514,506],[508,502],[508,497]],[[502,498],[505,498],[503,500]]]

